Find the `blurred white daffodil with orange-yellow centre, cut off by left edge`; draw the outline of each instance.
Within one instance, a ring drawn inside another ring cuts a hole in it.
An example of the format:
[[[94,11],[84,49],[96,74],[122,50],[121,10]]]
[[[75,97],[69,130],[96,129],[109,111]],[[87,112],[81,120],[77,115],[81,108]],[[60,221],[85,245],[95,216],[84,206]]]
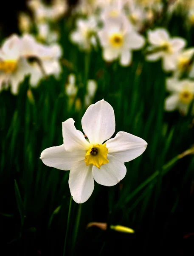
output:
[[[11,35],[0,48],[0,90],[11,86],[11,93],[17,94],[20,83],[29,74],[28,63],[22,58],[22,41]]]

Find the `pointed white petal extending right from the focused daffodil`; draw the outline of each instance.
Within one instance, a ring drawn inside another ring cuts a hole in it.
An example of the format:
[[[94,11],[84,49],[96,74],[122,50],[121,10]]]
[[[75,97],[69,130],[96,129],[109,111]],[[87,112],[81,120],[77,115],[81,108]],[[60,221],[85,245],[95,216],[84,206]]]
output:
[[[108,154],[121,162],[129,162],[140,156],[147,147],[145,140],[125,131],[119,131],[113,139],[106,142]]]

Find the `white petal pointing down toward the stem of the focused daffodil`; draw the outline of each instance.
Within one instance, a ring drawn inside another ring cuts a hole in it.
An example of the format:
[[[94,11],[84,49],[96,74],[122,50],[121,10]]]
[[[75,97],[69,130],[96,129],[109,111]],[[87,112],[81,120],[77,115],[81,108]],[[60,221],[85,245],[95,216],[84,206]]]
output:
[[[69,174],[69,188],[76,203],[87,201],[94,190],[92,165],[86,166],[84,161],[74,163]]]

